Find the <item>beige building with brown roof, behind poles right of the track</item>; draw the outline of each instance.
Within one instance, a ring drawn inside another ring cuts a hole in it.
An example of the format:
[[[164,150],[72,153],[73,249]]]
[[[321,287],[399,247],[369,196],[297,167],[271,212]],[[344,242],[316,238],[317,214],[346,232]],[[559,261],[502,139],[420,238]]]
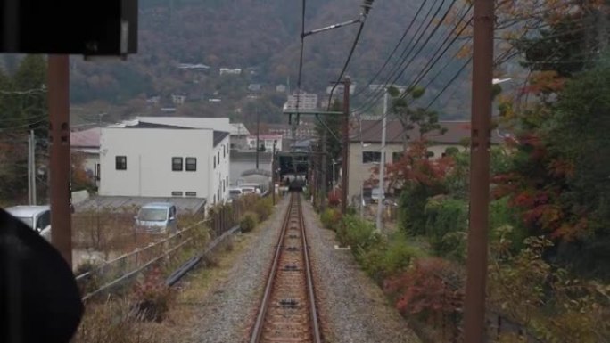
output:
[[[470,121],[440,121],[441,127],[447,129],[444,135],[431,132],[425,135],[430,144],[428,151],[431,158],[439,158],[447,148],[455,147],[464,151],[465,140],[470,137]],[[404,130],[400,121],[388,120],[386,125],[385,163],[394,163],[403,155],[402,141]],[[370,192],[367,181],[372,177],[372,169],[381,162],[382,124],[380,120],[360,120],[359,125],[352,127],[350,132],[350,157],[348,200],[353,201],[362,192]],[[416,128],[408,131],[409,141],[419,138]],[[501,142],[502,137],[497,131],[491,135],[491,143]]]

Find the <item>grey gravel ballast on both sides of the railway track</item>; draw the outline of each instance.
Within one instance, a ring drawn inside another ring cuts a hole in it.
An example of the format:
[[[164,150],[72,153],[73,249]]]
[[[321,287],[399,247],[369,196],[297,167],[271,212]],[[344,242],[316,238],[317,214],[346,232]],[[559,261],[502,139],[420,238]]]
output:
[[[364,274],[349,250],[334,249],[332,231],[322,228],[309,202],[303,200],[313,264],[318,314],[326,343],[419,343],[408,323],[388,303],[382,290]],[[234,251],[231,266],[210,280],[206,294],[190,304],[188,324],[175,327],[176,342],[247,342],[256,317],[263,282],[275,250],[288,197],[253,233],[247,246]],[[195,273],[203,273],[201,270]],[[188,282],[184,285],[187,289]],[[199,294],[199,293],[197,293]]]

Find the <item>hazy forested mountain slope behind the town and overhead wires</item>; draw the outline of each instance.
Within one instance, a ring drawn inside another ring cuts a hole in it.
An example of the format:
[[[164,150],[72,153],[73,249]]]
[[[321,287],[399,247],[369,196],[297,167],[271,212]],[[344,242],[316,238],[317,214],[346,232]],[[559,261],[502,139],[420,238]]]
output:
[[[375,75],[422,1],[375,2],[347,72],[357,90]],[[360,4],[359,0],[309,0],[306,30],[356,19]],[[425,9],[431,5],[427,4]],[[258,110],[264,112],[261,120],[285,119],[280,111],[285,94],[277,94],[275,87],[279,84],[296,87],[301,47],[300,1],[140,0],[139,20],[139,51],[128,56],[127,61],[89,62],[80,57],[70,60],[73,104],[87,108],[96,102],[92,108],[120,108],[124,114],[151,113],[173,106],[171,95],[177,94],[186,96],[185,105],[177,109],[185,115],[243,119]],[[414,29],[422,23],[422,19],[416,20]],[[357,29],[358,25],[350,25],[305,37],[302,89],[325,98],[326,86],[338,77]],[[440,32],[447,29],[443,26]],[[415,78],[444,35],[437,33],[425,45],[399,84],[408,85]],[[405,42],[415,38],[413,30]],[[179,69],[184,63],[199,64],[201,68]],[[394,63],[392,60],[389,66]],[[441,72],[423,102],[441,90],[460,63],[454,61]],[[222,68],[242,69],[242,73],[221,76]],[[454,86],[466,77],[464,74]],[[383,83],[387,74],[381,75],[374,83]],[[260,84],[262,90],[248,92],[250,84]],[[458,103],[452,105],[449,116],[459,117],[463,111],[460,103],[466,99],[467,86],[468,83],[462,83],[463,89],[458,89]],[[437,104],[446,100],[453,89],[449,87]],[[160,103],[146,102],[152,96],[158,96]],[[359,94],[354,105],[368,100],[366,94]]]

